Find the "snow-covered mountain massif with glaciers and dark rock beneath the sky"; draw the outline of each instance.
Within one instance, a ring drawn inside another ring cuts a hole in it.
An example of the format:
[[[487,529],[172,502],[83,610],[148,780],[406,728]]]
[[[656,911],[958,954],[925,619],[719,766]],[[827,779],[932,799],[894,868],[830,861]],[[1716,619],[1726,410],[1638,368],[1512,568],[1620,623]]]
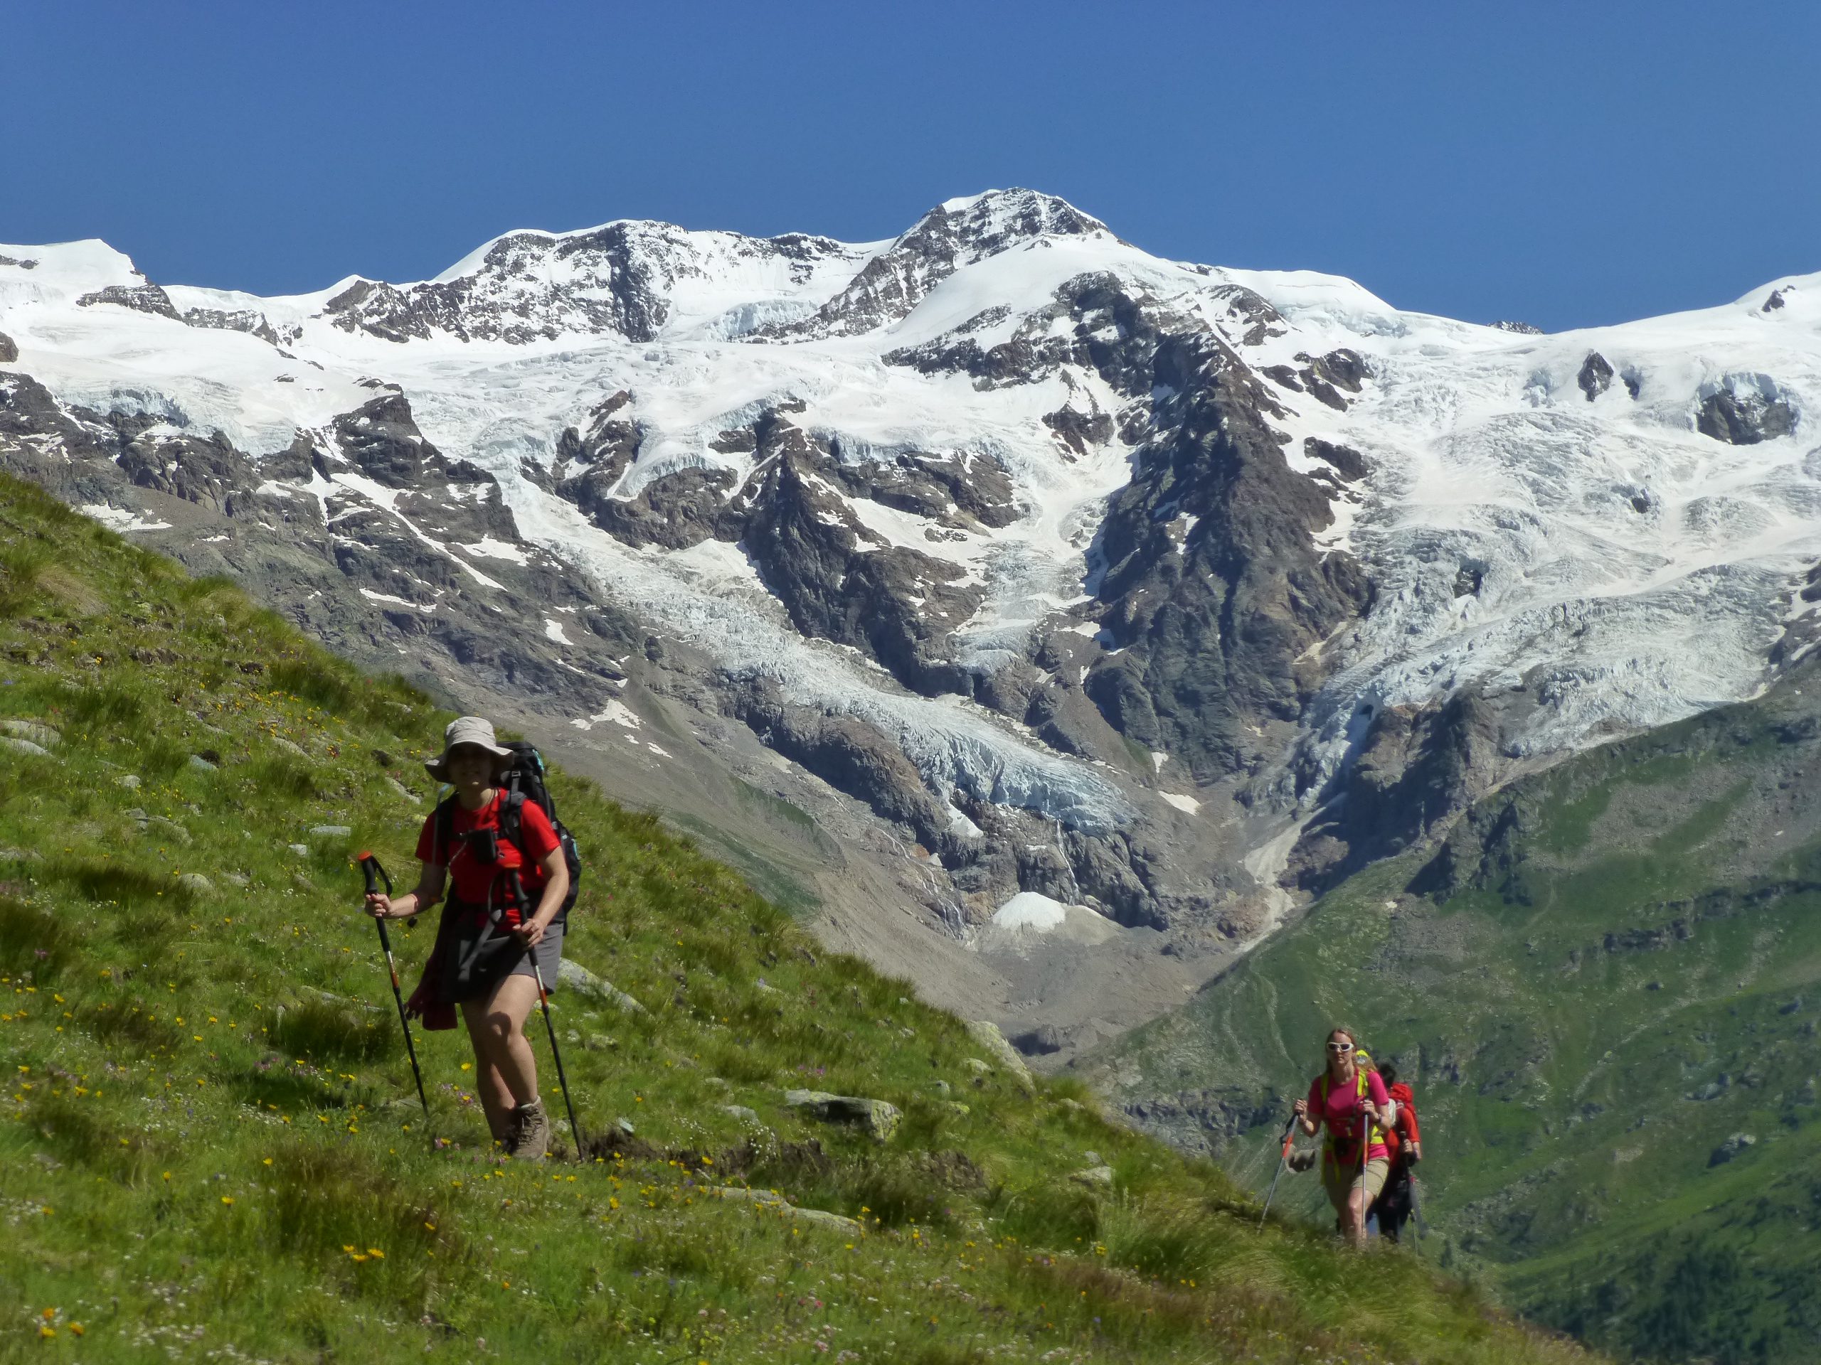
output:
[[[1286,863],[1326,885],[1752,695],[1821,597],[1821,275],[1541,335],[1020,189],[890,242],[515,231],[284,298],[0,246],[0,333],[7,468],[368,662],[615,735],[630,795],[725,768],[865,824],[951,935],[1104,956],[1047,897],[1184,985]],[[1007,1017],[1145,1012],[1045,1014],[1045,972]]]

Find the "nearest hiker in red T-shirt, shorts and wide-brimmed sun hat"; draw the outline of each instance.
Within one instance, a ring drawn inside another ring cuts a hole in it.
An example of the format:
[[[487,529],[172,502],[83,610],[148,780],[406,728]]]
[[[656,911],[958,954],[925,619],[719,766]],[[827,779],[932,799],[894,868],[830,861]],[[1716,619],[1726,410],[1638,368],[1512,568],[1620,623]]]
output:
[[[543,808],[499,790],[514,761],[515,753],[493,739],[492,723],[477,715],[452,721],[443,753],[424,768],[455,795],[430,814],[417,837],[424,864],[417,890],[397,899],[373,894],[366,905],[379,919],[406,919],[443,899],[444,879],[453,883],[406,1008],[422,1016],[424,1028],[453,1028],[453,1006],[461,1006],[493,1139],[508,1156],[541,1158],[550,1148],[550,1119],[537,1099],[524,1021],[537,1005],[532,956],[546,988],[557,979],[570,870]],[[528,915],[519,914],[515,881]]]

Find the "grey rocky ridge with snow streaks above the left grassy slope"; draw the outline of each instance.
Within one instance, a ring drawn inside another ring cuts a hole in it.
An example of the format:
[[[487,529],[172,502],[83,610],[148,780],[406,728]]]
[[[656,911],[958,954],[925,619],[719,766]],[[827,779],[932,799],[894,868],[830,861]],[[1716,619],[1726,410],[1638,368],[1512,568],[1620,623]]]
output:
[[[592,606],[557,566],[526,555],[523,566],[486,561],[484,575],[463,568],[463,542],[523,542],[492,475],[446,460],[402,395],[382,393],[337,419],[337,450],[300,435],[253,459],[220,433],[153,435],[158,426],[148,415],[66,408],[27,375],[0,375],[0,468],[66,502],[142,508],[148,521],[173,522],[135,535],[197,573],[231,573],[348,657],[381,668],[410,661],[437,686],[459,679],[570,706],[605,703],[605,684],[623,677],[612,657],[630,650],[630,624]],[[390,510],[344,484],[320,491],[319,482],[320,500],[286,488],[351,468],[395,480]],[[563,608],[586,635],[559,659],[541,622]]]

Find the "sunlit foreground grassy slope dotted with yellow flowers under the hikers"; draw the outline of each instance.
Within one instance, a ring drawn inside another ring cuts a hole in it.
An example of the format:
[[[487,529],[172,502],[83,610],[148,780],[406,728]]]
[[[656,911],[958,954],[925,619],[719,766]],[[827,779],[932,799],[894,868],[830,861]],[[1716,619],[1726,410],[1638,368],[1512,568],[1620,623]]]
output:
[[[410,866],[444,721],[0,480],[0,728],[60,732],[0,746],[0,1360],[1582,1358],[1413,1258],[1255,1232],[1218,1168],[561,774],[570,952],[645,1006],[555,996],[597,1141],[495,1159],[455,1034],[419,1034],[426,1125],[350,857]],[[393,935],[413,974],[428,926]],[[856,1221],[714,1194],[747,1185]]]

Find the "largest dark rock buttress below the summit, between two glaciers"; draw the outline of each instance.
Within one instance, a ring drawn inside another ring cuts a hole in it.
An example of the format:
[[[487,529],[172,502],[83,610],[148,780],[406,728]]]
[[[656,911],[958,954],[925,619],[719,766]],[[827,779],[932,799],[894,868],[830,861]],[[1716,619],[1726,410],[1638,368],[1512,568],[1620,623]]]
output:
[[[1091,586],[1122,653],[1093,666],[1087,692],[1114,730],[1198,781],[1238,772],[1244,728],[1295,719],[1311,682],[1298,657],[1364,612],[1371,586],[1351,557],[1315,550],[1328,495],[1284,460],[1266,420],[1282,408],[1224,342],[1134,315],[1096,360],[1127,393],[1178,397],[1160,404],[1100,528]],[[1333,357],[1324,373],[1351,379]],[[1180,517],[1195,522],[1178,542]]]

